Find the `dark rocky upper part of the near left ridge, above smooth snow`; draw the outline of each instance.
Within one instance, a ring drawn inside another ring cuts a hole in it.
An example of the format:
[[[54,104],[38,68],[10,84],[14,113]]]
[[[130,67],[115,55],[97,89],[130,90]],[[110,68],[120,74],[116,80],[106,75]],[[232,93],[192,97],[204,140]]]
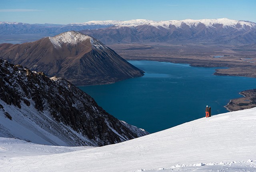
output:
[[[50,114],[57,124],[64,124],[77,132],[77,135],[81,134],[89,138],[92,142],[89,145],[114,144],[148,134],[134,126],[131,129],[124,122],[108,114],[93,98],[70,82],[57,77],[48,78],[42,72],[32,72],[1,59],[0,100],[20,108],[20,111],[36,108],[35,116]],[[5,113],[2,105],[1,112]],[[9,115],[12,116],[12,114]],[[82,144],[82,142],[76,142],[73,146]],[[84,145],[88,144],[84,143]]]

